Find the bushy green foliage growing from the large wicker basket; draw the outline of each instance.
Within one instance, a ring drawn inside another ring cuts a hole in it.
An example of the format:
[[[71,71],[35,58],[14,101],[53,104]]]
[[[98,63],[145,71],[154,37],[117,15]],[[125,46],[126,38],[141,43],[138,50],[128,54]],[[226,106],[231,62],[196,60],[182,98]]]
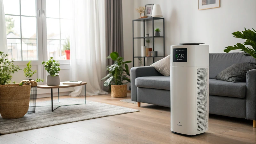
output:
[[[0,84],[10,84],[12,80],[12,74],[20,70],[19,66],[13,64],[13,60],[8,59],[9,54],[0,52]],[[7,58],[6,58],[7,57]]]

